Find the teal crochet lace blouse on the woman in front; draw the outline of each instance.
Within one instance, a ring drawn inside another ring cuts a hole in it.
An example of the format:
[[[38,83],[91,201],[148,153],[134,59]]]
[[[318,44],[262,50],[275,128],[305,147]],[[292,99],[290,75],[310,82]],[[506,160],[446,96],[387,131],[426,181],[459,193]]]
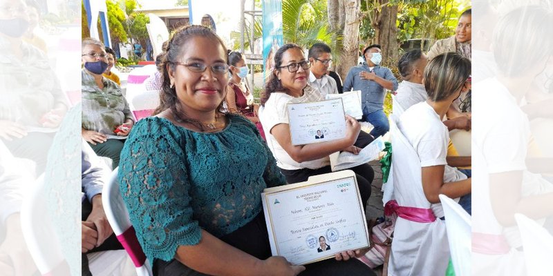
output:
[[[258,130],[227,115],[220,132],[200,133],[171,121],[138,121],[121,152],[119,183],[148,259],[169,261],[200,229],[222,237],[262,210],[264,188],[285,184]]]

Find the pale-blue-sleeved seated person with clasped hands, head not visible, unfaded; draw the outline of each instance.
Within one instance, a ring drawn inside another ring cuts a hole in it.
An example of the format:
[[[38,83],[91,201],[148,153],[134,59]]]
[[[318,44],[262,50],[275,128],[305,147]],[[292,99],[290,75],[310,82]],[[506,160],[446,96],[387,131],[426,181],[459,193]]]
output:
[[[109,168],[96,156],[87,143],[82,143],[82,275],[88,270],[87,253],[123,249],[109,225],[102,206],[102,188],[109,179]]]

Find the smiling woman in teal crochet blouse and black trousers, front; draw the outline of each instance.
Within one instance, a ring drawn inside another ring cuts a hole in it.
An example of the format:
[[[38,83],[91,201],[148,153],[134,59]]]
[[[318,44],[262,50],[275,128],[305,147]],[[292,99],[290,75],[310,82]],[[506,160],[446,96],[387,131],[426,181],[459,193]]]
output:
[[[271,257],[261,192],[285,179],[254,124],[220,111],[227,58],[208,28],[176,30],[160,106],[122,150],[120,190],[154,275],[371,275],[360,262]]]

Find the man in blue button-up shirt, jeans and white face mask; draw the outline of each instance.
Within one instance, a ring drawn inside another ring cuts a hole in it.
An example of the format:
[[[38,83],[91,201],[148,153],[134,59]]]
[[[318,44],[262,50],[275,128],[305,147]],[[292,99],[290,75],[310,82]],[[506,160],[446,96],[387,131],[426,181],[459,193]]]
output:
[[[344,92],[361,90],[363,121],[368,121],[375,128],[371,135],[377,138],[390,129],[388,117],[384,114],[384,96],[386,90],[397,90],[397,79],[389,68],[380,66],[382,50],[378,44],[368,46],[363,50],[365,63],[350,69]]]

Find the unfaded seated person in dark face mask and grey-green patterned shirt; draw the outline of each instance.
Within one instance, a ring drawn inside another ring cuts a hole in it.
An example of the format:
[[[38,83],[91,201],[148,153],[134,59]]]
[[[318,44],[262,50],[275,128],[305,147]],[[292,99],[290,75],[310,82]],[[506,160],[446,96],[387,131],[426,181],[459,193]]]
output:
[[[109,157],[116,168],[134,119],[121,88],[102,75],[108,68],[107,57],[104,43],[91,38],[82,41],[81,133],[94,152]]]

